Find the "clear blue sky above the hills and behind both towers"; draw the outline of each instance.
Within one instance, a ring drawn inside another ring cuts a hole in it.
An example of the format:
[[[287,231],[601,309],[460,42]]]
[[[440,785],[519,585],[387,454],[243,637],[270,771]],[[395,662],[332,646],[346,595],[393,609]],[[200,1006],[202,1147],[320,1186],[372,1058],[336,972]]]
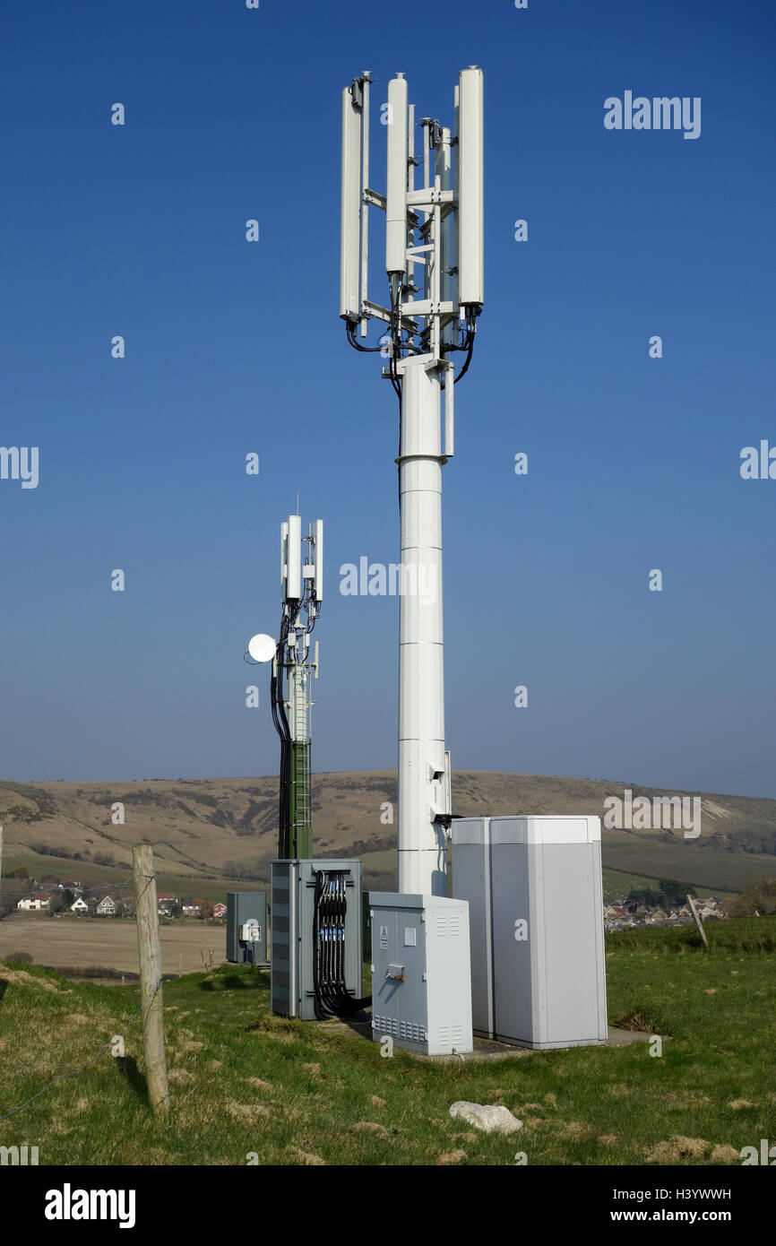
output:
[[[396,764],[396,599],[336,591],[399,543],[395,397],[338,319],[340,91],[369,69],[379,103],[402,71],[417,116],[448,121],[477,64],[486,305],[445,468],[453,766],[776,796],[776,481],[739,471],[776,445],[776,10],[417,14],[6,0],[0,444],[39,446],[40,483],[0,481],[4,778],[275,773],[243,652],[278,628],[296,490],[328,536],[314,769]],[[627,90],[699,96],[700,137],[605,130]],[[376,125],[372,169],[384,189]]]

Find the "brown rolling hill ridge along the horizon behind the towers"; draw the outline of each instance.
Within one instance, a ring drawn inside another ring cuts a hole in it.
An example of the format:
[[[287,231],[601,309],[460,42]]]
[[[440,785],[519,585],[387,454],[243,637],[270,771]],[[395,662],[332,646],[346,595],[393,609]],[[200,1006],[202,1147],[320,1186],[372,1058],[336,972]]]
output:
[[[700,796],[701,834],[604,830],[604,866],[644,878],[674,877],[734,891],[747,876],[776,876],[776,800],[706,792],[658,792],[634,782],[552,775],[456,771],[453,810],[475,814],[598,814],[623,796]],[[123,822],[115,822],[123,806]],[[0,782],[4,873],[118,881],[131,846],[153,842],[161,885],[214,898],[239,881],[267,882],[277,855],[278,779]],[[390,820],[392,817],[392,821]],[[365,883],[395,886],[396,771],[313,776],[313,825],[320,856],[359,856]],[[49,867],[46,870],[46,866]]]

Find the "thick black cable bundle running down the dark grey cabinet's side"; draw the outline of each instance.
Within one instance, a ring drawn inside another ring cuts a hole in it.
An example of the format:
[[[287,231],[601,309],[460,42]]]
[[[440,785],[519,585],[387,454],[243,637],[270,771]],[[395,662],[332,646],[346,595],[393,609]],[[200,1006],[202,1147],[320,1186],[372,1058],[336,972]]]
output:
[[[356,999],[345,979],[345,920],[348,896],[343,870],[316,870],[313,900],[313,988],[315,1015],[351,1017],[367,1004],[371,996]]]

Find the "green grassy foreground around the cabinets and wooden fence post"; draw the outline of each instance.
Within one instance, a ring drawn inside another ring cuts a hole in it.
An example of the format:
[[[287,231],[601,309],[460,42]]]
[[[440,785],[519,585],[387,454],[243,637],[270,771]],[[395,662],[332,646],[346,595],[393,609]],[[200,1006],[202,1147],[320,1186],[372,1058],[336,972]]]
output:
[[[164,987],[172,1091],[156,1121],[138,1020],[126,1058],[93,1064],[0,1121],[0,1145],[41,1164],[507,1165],[739,1164],[776,1138],[776,920],[634,931],[607,939],[610,1023],[655,1044],[531,1052],[499,1062],[419,1060],[315,1023],[273,1017],[250,967]],[[138,1006],[137,987],[0,964],[0,1116],[88,1060]],[[448,1116],[456,1099],[506,1104],[511,1138]]]

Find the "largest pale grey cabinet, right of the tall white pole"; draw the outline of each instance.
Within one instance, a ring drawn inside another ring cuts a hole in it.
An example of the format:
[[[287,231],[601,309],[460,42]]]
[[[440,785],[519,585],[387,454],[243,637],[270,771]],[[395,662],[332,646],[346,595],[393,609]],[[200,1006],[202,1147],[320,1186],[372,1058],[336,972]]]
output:
[[[475,1033],[604,1043],[600,819],[461,817],[452,845],[453,895],[471,910]]]

